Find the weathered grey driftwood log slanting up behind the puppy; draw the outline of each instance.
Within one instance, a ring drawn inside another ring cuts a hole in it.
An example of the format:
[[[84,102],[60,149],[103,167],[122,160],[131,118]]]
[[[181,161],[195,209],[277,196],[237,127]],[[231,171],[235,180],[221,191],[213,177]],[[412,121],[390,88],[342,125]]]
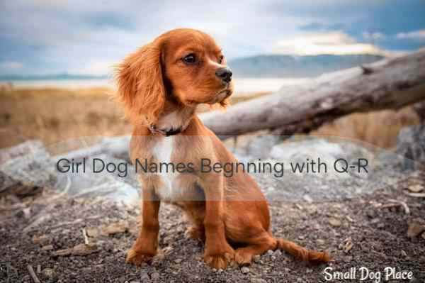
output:
[[[324,74],[259,99],[200,118],[217,135],[264,129],[279,135],[308,133],[353,112],[399,109],[425,100],[425,50]]]

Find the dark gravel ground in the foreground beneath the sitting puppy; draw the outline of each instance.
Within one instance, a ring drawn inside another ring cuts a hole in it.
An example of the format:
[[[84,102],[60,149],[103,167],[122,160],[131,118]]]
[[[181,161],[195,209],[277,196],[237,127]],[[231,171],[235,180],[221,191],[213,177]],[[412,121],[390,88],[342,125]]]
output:
[[[33,282],[31,269],[40,282],[326,282],[326,267],[339,272],[367,267],[382,272],[381,282],[385,267],[395,267],[412,271],[414,279],[390,282],[424,282],[425,202],[406,188],[424,187],[425,178],[414,176],[355,199],[272,202],[274,235],[329,250],[334,262],[321,266],[268,251],[249,267],[212,270],[203,263],[203,243],[185,238],[181,211],[164,205],[161,251],[150,265],[134,267],[125,264],[125,251],[137,235],[138,209],[47,189],[24,199],[4,196],[1,282]]]

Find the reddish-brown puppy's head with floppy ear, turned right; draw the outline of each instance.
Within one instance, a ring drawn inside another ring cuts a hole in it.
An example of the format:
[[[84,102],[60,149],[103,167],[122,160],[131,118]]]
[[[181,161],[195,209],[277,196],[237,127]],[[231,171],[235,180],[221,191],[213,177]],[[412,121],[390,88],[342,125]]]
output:
[[[169,99],[182,106],[227,104],[232,72],[214,39],[199,30],[164,33],[118,66],[118,96],[133,121],[154,123]]]

